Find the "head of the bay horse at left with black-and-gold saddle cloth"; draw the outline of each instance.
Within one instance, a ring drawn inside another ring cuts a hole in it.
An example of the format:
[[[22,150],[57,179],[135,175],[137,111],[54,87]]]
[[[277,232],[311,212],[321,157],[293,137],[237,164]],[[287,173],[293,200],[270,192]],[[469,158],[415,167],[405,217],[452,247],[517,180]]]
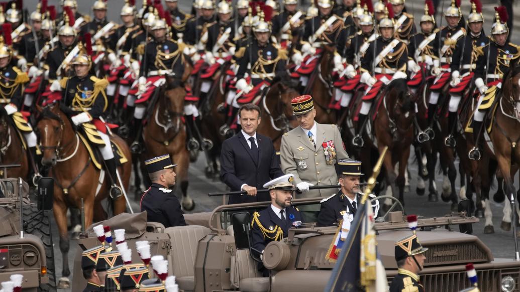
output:
[[[72,124],[60,109],[60,103],[40,107],[36,105],[38,120],[36,132],[40,137],[40,149],[43,151],[42,164],[45,166],[56,165],[59,153],[73,141],[74,134]],[[62,142],[69,141],[65,145]]]

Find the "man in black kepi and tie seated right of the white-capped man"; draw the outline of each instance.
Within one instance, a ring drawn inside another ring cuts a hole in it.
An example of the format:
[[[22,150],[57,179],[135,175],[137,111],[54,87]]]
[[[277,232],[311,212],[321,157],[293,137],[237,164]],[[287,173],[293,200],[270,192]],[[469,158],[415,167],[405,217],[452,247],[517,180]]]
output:
[[[359,178],[361,175],[361,162],[355,160],[340,160],[337,162],[339,168],[339,181],[341,190],[328,198],[321,200],[320,213],[318,215],[318,226],[332,226],[345,214],[350,214],[349,218],[354,219],[359,203],[361,202],[361,189],[359,188]],[[370,198],[375,195],[370,194]],[[372,204],[374,216],[378,215],[379,201]]]

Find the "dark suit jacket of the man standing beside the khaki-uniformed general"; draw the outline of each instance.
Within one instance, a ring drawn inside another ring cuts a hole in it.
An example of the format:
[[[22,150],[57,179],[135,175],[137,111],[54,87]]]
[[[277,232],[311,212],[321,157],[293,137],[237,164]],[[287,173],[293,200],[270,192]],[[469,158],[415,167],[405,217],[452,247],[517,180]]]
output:
[[[240,131],[222,144],[220,152],[220,177],[231,191],[240,191],[242,184],[263,189],[264,183],[283,176],[280,161],[276,157],[271,139],[256,134],[258,142],[258,163],[255,163],[249,147]],[[258,165],[257,165],[258,164]],[[248,195],[231,195],[228,204],[270,201],[269,193],[257,193],[256,197]]]

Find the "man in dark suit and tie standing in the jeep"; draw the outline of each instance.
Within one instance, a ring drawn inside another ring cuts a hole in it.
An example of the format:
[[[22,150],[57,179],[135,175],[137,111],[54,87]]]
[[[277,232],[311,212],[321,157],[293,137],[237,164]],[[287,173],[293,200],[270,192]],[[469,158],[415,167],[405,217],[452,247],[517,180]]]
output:
[[[228,204],[269,201],[269,194],[256,191],[271,178],[283,175],[275,147],[271,139],[256,134],[260,108],[244,104],[238,115],[242,130],[222,144],[220,177],[231,191],[245,191],[247,196],[230,196]]]

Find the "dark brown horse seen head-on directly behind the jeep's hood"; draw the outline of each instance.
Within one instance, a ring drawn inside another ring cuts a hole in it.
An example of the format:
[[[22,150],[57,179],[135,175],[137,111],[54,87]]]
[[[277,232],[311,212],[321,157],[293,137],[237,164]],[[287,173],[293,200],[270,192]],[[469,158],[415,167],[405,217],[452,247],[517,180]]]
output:
[[[410,156],[410,146],[413,141],[413,119],[415,118],[415,100],[409,92],[406,79],[395,79],[389,83],[376,103],[381,101],[381,108],[377,109],[373,122],[374,136],[379,153],[388,147],[384,158],[387,193],[397,193],[399,201],[404,206],[405,171]],[[373,114],[373,113],[371,113]],[[395,165],[399,163],[398,174],[395,174]],[[385,202],[385,206],[388,202]]]

